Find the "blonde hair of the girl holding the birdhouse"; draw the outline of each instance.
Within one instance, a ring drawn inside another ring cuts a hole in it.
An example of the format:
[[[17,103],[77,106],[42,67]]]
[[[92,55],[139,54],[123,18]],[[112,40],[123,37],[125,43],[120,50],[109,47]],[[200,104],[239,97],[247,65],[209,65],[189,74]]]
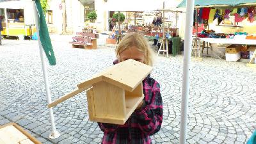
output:
[[[138,33],[128,33],[124,36],[121,42],[116,47],[116,57],[120,61],[120,53],[129,49],[130,47],[137,47],[139,51],[144,53],[145,60],[143,63],[146,65],[153,65],[153,51],[148,45],[148,41]]]

